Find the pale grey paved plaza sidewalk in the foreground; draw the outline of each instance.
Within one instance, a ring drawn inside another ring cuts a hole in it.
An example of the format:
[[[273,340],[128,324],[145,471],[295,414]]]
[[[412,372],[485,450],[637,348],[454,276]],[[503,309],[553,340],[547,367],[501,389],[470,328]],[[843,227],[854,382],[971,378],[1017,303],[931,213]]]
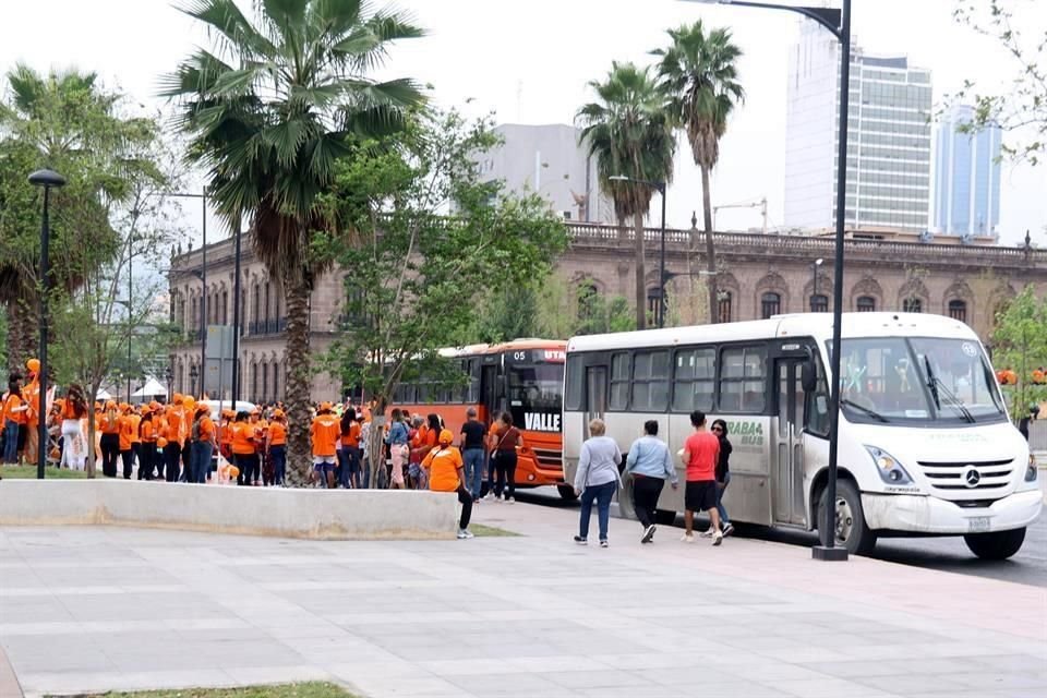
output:
[[[525,535],[3,528],[0,643],[26,696],[306,678],[375,698],[1047,691],[1044,589],[672,528],[641,546],[621,519],[609,550],[579,547],[575,509],[485,503],[476,520]]]

